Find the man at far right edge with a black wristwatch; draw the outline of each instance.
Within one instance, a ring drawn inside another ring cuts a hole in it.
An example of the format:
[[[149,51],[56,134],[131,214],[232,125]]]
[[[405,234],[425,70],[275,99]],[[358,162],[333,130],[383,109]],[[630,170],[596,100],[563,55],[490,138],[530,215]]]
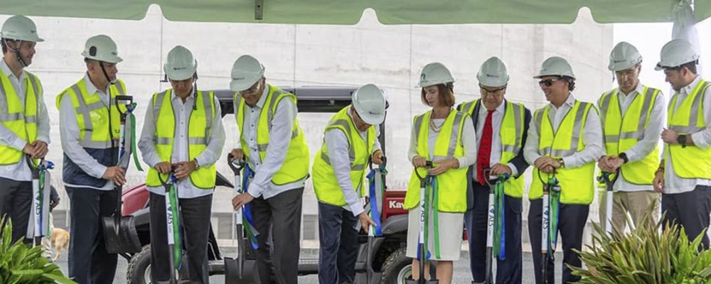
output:
[[[667,128],[662,131],[664,158],[653,186],[662,192],[665,224],[685,229],[690,239],[703,234],[711,212],[711,82],[697,73],[699,54],[686,40],[672,40],[661,50],[655,70],[664,70],[675,94],[668,105]]]

